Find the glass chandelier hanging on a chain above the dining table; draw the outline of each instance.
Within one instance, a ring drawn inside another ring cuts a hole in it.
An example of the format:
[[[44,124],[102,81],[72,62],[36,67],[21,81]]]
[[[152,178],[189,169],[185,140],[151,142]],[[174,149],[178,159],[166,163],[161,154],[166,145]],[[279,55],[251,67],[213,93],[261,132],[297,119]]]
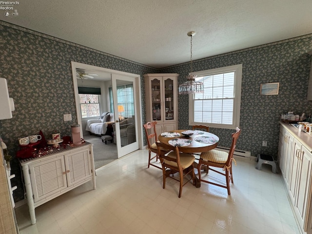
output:
[[[194,31],[188,32],[187,36],[191,37],[191,72],[187,76],[187,81],[179,85],[179,94],[195,94],[204,92],[204,84],[196,81],[197,75],[193,75],[193,61],[192,61],[192,38],[195,35]]]

